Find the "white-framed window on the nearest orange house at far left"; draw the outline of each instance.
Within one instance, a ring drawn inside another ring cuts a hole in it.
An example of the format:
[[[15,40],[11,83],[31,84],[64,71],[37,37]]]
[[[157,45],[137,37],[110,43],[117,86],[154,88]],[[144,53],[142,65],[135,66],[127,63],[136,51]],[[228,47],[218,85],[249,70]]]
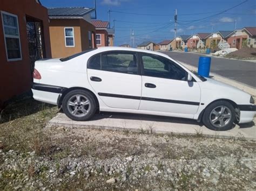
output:
[[[2,11],[5,50],[8,61],[22,60],[18,17]]]

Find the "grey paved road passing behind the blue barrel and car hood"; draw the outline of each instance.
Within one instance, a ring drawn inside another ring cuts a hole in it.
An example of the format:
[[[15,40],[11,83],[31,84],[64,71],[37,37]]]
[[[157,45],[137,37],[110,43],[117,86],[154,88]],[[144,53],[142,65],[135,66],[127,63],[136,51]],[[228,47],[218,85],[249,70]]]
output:
[[[198,67],[200,54],[164,52],[171,58]],[[256,87],[256,63],[212,57],[211,72]]]

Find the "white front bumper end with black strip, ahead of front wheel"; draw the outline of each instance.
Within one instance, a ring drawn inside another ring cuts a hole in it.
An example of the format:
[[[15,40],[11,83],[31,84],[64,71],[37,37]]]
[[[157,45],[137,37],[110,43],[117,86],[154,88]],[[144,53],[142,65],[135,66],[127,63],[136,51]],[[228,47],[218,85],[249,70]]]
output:
[[[238,105],[240,109],[239,123],[249,123],[253,121],[256,115],[256,105]]]

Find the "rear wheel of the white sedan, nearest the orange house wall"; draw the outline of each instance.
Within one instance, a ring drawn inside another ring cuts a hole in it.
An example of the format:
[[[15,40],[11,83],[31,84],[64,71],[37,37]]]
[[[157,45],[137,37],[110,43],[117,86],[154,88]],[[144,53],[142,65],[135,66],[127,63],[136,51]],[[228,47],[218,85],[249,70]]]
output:
[[[66,116],[74,121],[86,121],[95,115],[95,97],[86,90],[72,90],[65,95],[62,108]]]

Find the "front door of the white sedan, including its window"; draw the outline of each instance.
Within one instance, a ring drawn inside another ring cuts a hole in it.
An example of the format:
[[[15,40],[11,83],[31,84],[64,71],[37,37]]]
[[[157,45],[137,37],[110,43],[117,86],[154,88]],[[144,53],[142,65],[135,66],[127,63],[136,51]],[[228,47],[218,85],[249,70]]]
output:
[[[139,110],[196,114],[200,87],[186,81],[187,72],[163,56],[140,53],[142,101]]]

